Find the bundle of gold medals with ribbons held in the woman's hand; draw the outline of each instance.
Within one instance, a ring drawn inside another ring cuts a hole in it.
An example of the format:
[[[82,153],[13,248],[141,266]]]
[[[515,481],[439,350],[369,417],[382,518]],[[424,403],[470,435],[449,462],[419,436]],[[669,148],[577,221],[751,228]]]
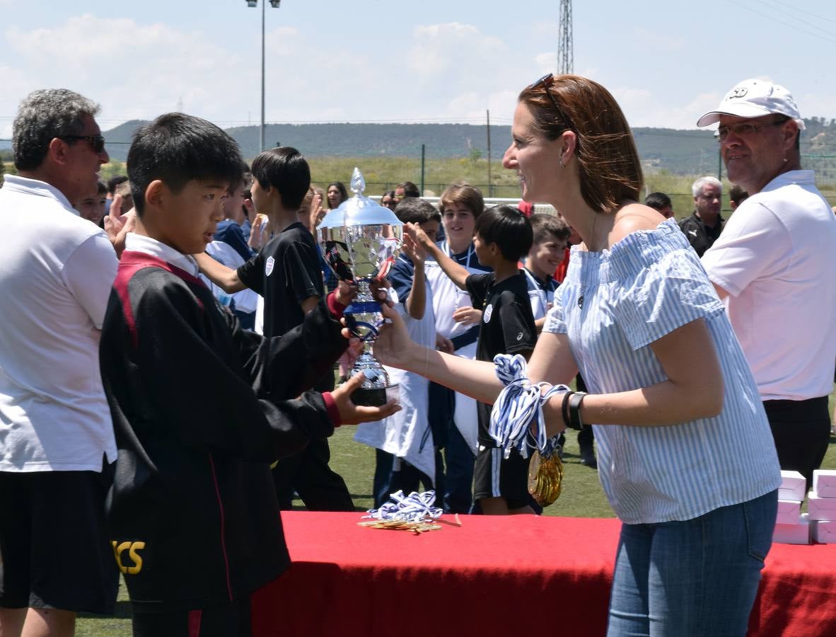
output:
[[[548,506],[560,496],[563,463],[557,451],[558,436],[547,437],[543,404],[553,394],[568,392],[569,388],[529,383],[525,358],[519,354],[499,354],[493,362],[505,388],[493,403],[488,431],[504,449],[506,458],[512,449],[523,458],[528,457],[529,448],[534,449],[528,463],[528,493],[540,506]]]

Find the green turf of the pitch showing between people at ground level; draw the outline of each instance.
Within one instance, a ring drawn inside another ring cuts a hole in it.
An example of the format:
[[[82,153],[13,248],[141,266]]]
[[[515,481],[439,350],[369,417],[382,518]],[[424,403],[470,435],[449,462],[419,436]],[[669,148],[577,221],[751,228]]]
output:
[[[836,392],[830,395],[830,413]],[[352,427],[337,429],[331,439],[331,466],[338,471],[349,486],[358,511],[372,506],[371,480],[375,472],[375,451],[364,444],[355,443]],[[836,438],[831,436],[823,469],[836,469]],[[578,444],[574,432],[566,436],[563,455],[563,491],[552,506],[544,512],[547,516],[614,517],[598,480],[598,472],[580,464]],[[359,515],[358,515],[359,518]],[[125,584],[120,586],[119,602],[115,617],[84,615],[78,621],[79,637],[130,637],[130,609]]]

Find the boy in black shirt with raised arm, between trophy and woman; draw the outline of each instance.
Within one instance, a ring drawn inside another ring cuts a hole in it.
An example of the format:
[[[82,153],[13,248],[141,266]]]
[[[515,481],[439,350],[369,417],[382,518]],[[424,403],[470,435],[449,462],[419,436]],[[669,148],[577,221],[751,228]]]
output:
[[[532,244],[531,223],[512,206],[495,206],[477,219],[474,246],[479,262],[493,268],[469,275],[420,229],[406,232],[430,252],[446,275],[471,295],[473,307],[482,309],[477,359],[492,361],[497,354],[528,358],[537,342],[537,330],[528,301],[528,286],[517,263]],[[516,449],[509,458],[488,434],[492,405],[478,403],[479,451],[476,459],[474,499],[487,515],[533,513],[528,495],[528,458]]]

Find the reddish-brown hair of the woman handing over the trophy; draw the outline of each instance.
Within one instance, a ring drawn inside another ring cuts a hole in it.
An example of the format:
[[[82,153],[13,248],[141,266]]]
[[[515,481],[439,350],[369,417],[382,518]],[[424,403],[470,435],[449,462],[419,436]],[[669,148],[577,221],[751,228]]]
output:
[[[547,139],[563,131],[577,136],[580,192],[590,208],[611,213],[625,199],[639,201],[644,181],[639,153],[609,90],[579,75],[547,75],[523,90],[519,101]]]

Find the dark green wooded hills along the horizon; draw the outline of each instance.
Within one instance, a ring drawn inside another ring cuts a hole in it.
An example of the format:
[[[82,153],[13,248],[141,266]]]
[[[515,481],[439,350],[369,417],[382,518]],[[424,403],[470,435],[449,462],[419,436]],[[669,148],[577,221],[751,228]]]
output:
[[[811,166],[820,177],[836,179],[836,121],[821,117],[804,120],[803,154],[832,158]],[[124,162],[130,136],[142,121],[128,121],[105,131],[108,152]],[[258,153],[258,126],[237,126],[227,132],[240,144],[244,157]],[[639,155],[650,169],[674,174],[716,172],[720,159],[711,131],[635,128]],[[295,146],[308,157],[420,157],[427,159],[487,157],[487,126],[471,124],[268,124],[268,146]],[[510,126],[491,126],[492,158],[502,157],[511,139]],[[809,162],[807,162],[809,163]]]

